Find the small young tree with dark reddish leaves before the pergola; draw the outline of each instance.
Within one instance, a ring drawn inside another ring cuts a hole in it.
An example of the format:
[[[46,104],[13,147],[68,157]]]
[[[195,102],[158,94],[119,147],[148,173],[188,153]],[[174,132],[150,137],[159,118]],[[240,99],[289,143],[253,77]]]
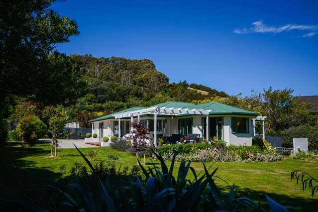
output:
[[[138,157],[139,152],[143,152],[143,165],[145,165],[145,151],[148,148],[147,139],[149,139],[149,137],[147,135],[149,134],[149,128],[144,126],[143,123],[138,123],[136,121],[132,123],[132,128],[133,137],[131,147],[136,151],[136,157]]]

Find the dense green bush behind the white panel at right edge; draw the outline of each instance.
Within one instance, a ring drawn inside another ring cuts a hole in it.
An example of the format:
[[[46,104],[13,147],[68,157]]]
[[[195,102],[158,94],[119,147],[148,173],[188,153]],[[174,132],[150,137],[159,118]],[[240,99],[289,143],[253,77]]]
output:
[[[300,125],[292,126],[281,131],[283,147],[293,147],[293,138],[308,138],[310,151],[318,149],[318,126]]]

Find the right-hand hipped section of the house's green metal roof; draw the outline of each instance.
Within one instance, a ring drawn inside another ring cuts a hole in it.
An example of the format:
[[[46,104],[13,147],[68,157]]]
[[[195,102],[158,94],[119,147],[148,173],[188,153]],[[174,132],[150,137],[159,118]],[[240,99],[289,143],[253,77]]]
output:
[[[257,112],[252,112],[246,109],[241,109],[234,106],[225,105],[222,103],[211,102],[199,104],[189,107],[190,109],[211,110],[210,114],[237,114],[237,115],[258,115]]]

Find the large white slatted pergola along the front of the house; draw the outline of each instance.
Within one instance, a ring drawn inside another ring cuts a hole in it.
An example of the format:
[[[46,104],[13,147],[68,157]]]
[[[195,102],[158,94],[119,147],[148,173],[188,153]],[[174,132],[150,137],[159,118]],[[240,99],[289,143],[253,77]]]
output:
[[[207,115],[209,116],[211,110],[195,109],[195,108],[175,108],[175,107],[159,107],[153,106],[144,109],[120,112],[116,113],[115,119],[118,119],[118,138],[120,138],[120,118],[131,118],[131,123],[133,122],[133,117],[137,116],[137,122],[140,121],[140,115],[154,115],[154,145],[157,147],[157,115],[181,115],[181,114],[191,114],[191,115]],[[207,118],[207,140],[209,140],[209,118]]]

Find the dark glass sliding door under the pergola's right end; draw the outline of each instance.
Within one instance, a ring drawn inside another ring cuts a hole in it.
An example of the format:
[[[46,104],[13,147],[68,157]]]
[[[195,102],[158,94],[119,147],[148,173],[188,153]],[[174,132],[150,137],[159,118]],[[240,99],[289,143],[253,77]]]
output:
[[[203,137],[207,137],[207,118],[202,118],[202,132]],[[222,117],[209,117],[209,138],[216,137],[219,140],[223,139],[223,118]]]

